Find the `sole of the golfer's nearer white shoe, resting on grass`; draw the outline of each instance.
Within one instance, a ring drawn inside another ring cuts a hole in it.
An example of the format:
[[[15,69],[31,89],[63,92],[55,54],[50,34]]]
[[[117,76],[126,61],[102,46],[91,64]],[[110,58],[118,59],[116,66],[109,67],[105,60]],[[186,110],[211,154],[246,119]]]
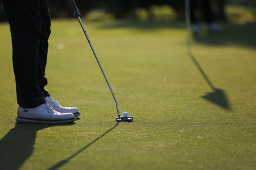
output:
[[[74,122],[76,118],[70,118],[67,120],[36,120],[36,119],[31,119],[31,118],[20,118],[17,117],[15,120],[19,123],[24,123],[24,124],[67,124],[70,122]]]

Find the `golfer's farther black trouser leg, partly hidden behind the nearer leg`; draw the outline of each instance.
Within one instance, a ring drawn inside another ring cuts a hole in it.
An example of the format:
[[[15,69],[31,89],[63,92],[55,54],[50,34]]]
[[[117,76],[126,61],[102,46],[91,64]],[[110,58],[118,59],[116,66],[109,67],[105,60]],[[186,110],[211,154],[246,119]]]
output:
[[[40,2],[41,15],[41,41],[39,45],[39,60],[38,60],[38,83],[41,92],[45,97],[50,96],[44,87],[47,85],[47,78],[45,76],[45,66],[47,62],[48,53],[48,39],[51,34],[51,17],[49,13],[48,0],[41,0]]]

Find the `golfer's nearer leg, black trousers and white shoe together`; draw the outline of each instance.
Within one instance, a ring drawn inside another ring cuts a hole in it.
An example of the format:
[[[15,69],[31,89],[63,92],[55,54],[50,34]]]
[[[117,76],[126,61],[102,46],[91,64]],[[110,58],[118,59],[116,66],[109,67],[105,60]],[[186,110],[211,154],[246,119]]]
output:
[[[20,105],[16,121],[42,124],[73,122],[76,120],[73,113],[60,113],[52,110],[51,106],[46,103],[38,83],[38,75],[40,75],[38,62],[41,56],[39,46],[41,39],[44,39],[40,12],[41,1],[47,0],[3,1],[12,32],[13,69],[17,101]],[[46,59],[43,62],[46,64]],[[45,64],[43,69],[45,69]]]

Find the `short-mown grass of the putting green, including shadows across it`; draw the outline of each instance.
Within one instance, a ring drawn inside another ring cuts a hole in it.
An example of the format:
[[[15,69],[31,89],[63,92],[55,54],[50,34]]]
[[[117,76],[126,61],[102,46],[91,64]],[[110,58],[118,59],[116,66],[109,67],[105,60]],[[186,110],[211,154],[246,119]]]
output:
[[[183,23],[84,24],[134,122],[116,124],[78,22],[53,20],[46,89],[80,119],[15,124],[10,30],[0,24],[0,169],[256,169],[256,25],[202,32],[191,58]]]

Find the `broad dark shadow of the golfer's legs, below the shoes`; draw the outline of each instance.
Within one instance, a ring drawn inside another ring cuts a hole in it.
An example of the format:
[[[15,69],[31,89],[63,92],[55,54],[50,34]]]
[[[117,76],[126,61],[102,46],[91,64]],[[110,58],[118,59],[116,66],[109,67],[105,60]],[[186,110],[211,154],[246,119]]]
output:
[[[11,129],[0,141],[0,169],[20,169],[32,155],[36,132],[53,126],[71,124],[19,124]]]

